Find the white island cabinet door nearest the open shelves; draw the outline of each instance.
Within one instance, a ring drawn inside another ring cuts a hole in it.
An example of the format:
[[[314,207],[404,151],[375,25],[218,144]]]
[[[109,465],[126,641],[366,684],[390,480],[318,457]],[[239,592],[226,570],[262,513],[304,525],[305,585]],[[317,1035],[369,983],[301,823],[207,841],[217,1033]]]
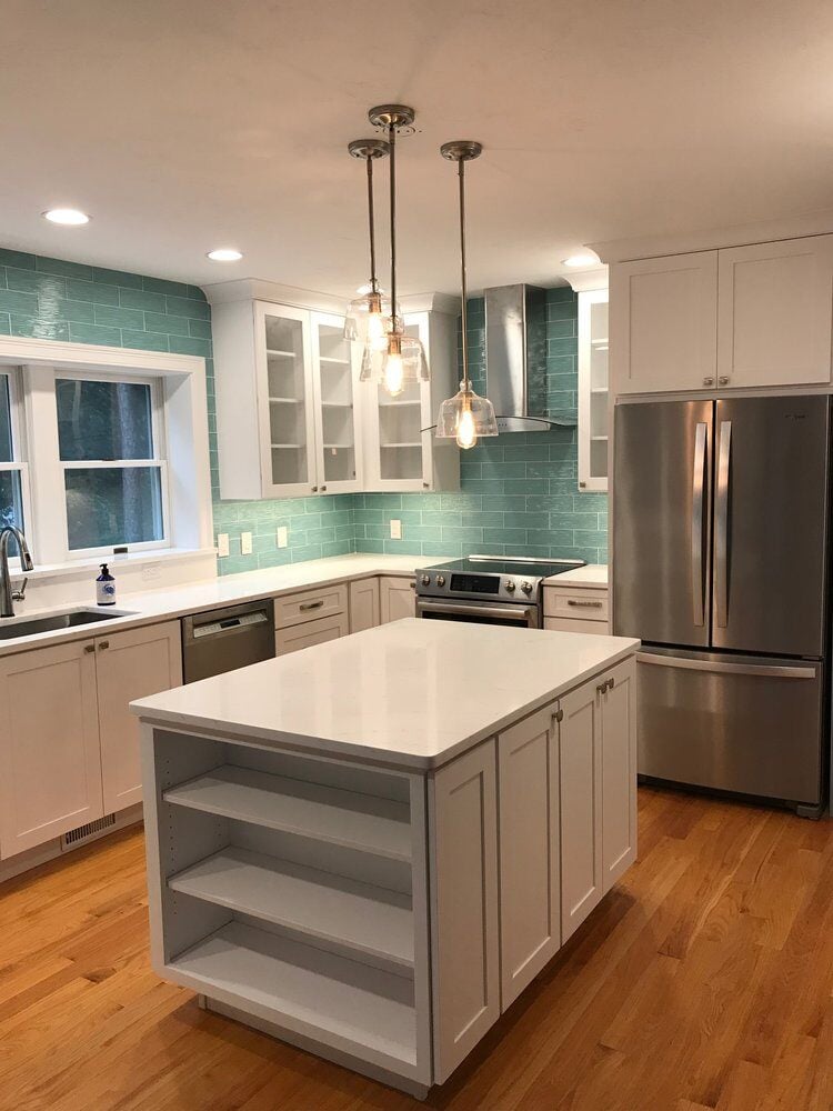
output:
[[[434,1082],[500,1015],[494,741],[429,780]]]

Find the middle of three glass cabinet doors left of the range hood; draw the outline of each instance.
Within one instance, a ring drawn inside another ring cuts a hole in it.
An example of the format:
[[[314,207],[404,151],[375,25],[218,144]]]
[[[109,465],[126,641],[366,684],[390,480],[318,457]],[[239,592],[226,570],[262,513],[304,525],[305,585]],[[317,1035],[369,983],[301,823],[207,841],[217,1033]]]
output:
[[[350,493],[363,478],[353,344],[344,339],[344,318],[323,312],[312,313],[311,339],[318,489]]]

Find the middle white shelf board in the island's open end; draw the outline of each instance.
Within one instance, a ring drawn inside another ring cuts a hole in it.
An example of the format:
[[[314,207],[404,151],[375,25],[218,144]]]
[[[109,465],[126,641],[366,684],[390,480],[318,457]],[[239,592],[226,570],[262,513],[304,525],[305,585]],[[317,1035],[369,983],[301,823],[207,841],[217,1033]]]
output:
[[[401,892],[233,845],[168,887],[413,971],[413,913]]]

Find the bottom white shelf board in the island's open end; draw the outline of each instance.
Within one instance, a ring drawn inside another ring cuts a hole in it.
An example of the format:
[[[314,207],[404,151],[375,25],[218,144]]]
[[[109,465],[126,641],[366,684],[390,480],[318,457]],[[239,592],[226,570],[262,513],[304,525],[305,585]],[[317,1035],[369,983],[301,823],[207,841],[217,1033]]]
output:
[[[403,977],[230,922],[167,965],[230,1005],[391,1068],[416,1064],[412,984]]]

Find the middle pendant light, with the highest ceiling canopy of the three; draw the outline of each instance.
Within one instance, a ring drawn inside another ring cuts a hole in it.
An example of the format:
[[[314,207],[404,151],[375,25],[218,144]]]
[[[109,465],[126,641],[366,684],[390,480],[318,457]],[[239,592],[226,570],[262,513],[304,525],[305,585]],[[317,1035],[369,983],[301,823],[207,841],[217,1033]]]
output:
[[[365,343],[360,379],[377,380],[391,397],[402,393],[412,382],[428,380],[428,363],[422,341],[407,336],[404,321],[397,306],[397,134],[412,128],[414,111],[405,104],[380,104],[368,112],[370,122],[388,131],[390,153],[391,218],[391,300],[392,312],[387,334],[379,343]]]

